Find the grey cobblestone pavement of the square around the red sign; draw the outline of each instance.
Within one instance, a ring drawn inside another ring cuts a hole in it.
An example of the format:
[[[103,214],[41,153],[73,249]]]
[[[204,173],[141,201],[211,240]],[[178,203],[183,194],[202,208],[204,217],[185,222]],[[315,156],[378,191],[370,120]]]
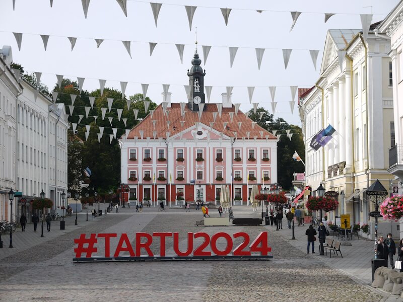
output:
[[[72,263],[73,239],[81,233],[203,231],[246,232],[250,238],[264,226],[195,226],[199,212],[129,211],[108,214],[98,223],[6,257],[0,262],[0,301],[383,301],[386,296],[356,283],[268,230],[270,261],[171,261]],[[117,242],[111,240],[111,251]],[[234,246],[238,244],[234,241]],[[180,247],[186,240],[180,242]],[[198,241],[195,241],[195,246]],[[218,241],[218,247],[224,242]],[[172,241],[167,241],[167,255]],[[159,252],[159,241],[152,251]],[[102,255],[102,248],[98,255]]]

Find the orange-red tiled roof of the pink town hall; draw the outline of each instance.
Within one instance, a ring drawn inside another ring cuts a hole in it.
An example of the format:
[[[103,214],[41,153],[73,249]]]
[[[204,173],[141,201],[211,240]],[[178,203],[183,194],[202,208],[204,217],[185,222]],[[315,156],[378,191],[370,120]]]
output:
[[[205,104],[205,110],[201,115],[201,119],[199,121],[198,114],[195,111],[191,111],[186,104],[185,107],[185,117],[183,118],[180,111],[179,103],[172,103],[171,108],[167,108],[169,111],[168,117],[163,115],[163,110],[161,104],[155,108],[153,117],[151,115],[147,115],[144,120],[142,120],[139,124],[133,127],[127,138],[134,138],[137,136],[141,137],[140,130],[144,131],[143,138],[151,137],[153,139],[153,131],[157,131],[157,137],[166,137],[165,132],[170,132],[170,136],[175,135],[183,130],[194,126],[194,122],[200,122],[200,124],[205,124],[207,127],[210,127],[210,122],[213,122],[213,112],[218,112],[216,104]],[[250,132],[249,139],[253,139],[254,136],[257,136],[257,139],[261,139],[259,131],[263,131],[263,139],[266,139],[266,135],[268,135],[268,139],[277,139],[275,135],[267,130],[261,128],[257,124],[255,124],[252,129],[252,120],[250,118],[246,118],[245,114],[238,110],[238,114],[234,114],[234,119],[231,122],[229,112],[235,112],[234,105],[232,108],[223,108],[221,117],[217,114],[216,121],[213,125],[213,129],[223,132],[225,135],[230,137],[235,137],[233,132],[237,132],[238,139],[241,139],[243,136],[247,137],[246,132]],[[153,120],[156,120],[155,128],[153,126]],[[167,121],[170,121],[169,129],[167,126]],[[185,121],[183,127],[180,121]],[[227,122],[227,129],[224,130],[224,122]],[[238,122],[242,122],[241,130],[239,130]],[[175,126],[175,130],[173,127]],[[224,130],[224,131],[223,131]]]

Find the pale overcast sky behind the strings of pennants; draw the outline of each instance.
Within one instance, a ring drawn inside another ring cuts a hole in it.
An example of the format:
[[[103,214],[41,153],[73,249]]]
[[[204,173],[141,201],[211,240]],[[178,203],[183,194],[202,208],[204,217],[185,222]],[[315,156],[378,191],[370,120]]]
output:
[[[206,69],[205,85],[213,86],[211,102],[221,102],[226,86],[233,86],[233,103],[241,103],[247,111],[247,86],[255,86],[254,103],[272,112],[269,86],[277,86],[275,117],[300,125],[298,110],[291,114],[289,86],[312,87],[318,80],[323,47],[328,29],[361,29],[359,14],[374,14],[373,23],[381,21],[398,3],[383,1],[158,1],[162,8],[155,26],[151,6],[146,1],[127,0],[126,18],[115,0],[92,0],[87,19],[80,0],[0,0],[0,47],[11,45],[13,59],[26,71],[42,72],[41,82],[51,90],[54,74],[77,81],[86,78],[84,89],[99,88],[98,79],[106,87],[120,90],[119,81],[129,82],[126,95],[141,93],[140,83],[150,84],[148,94],[161,103],[162,85],[170,84],[173,102],[187,102],[183,85],[188,85],[187,69],[191,66],[197,26],[197,42],[201,65]],[[192,31],[184,5],[196,6]],[[372,6],[372,8],[364,8]],[[228,26],[219,8],[232,8]],[[257,13],[256,10],[271,12]],[[300,11],[290,33],[290,11]],[[319,13],[319,14],[317,14]],[[336,13],[324,23],[323,13]],[[21,51],[13,32],[24,33]],[[39,34],[50,35],[47,51]],[[56,37],[57,36],[57,37]],[[78,37],[71,51],[65,37]],[[80,39],[82,38],[82,39]],[[94,39],[105,39],[99,48]],[[130,59],[121,40],[131,42]],[[150,57],[148,42],[158,42]],[[174,44],[185,44],[183,64]],[[212,45],[207,63],[201,45]],[[230,68],[228,46],[239,47]],[[254,48],[266,48],[260,70]],[[270,48],[270,49],[268,49]],[[281,49],[294,49],[284,68]],[[300,50],[298,50],[300,49]],[[316,71],[308,49],[317,49]],[[207,99],[206,99],[207,102]]]

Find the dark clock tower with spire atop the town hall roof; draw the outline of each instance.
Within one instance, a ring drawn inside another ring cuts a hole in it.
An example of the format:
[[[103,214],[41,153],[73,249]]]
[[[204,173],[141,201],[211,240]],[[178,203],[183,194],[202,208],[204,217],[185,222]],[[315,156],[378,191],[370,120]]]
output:
[[[187,107],[192,111],[198,111],[198,104],[205,103],[204,77],[206,75],[206,70],[203,70],[203,68],[200,67],[200,64],[201,60],[198,57],[196,48],[192,59],[192,66],[190,70],[187,70],[190,85]],[[204,110],[206,110],[206,107]]]

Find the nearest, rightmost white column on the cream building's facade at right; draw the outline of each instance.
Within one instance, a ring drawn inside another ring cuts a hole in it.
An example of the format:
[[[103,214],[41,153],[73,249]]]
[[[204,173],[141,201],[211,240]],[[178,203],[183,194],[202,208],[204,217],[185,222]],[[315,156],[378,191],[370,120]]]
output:
[[[351,74],[350,70],[346,70],[346,89],[345,89],[345,143],[346,143],[346,167],[351,169],[353,167],[353,109],[352,106],[352,91],[351,91]]]

